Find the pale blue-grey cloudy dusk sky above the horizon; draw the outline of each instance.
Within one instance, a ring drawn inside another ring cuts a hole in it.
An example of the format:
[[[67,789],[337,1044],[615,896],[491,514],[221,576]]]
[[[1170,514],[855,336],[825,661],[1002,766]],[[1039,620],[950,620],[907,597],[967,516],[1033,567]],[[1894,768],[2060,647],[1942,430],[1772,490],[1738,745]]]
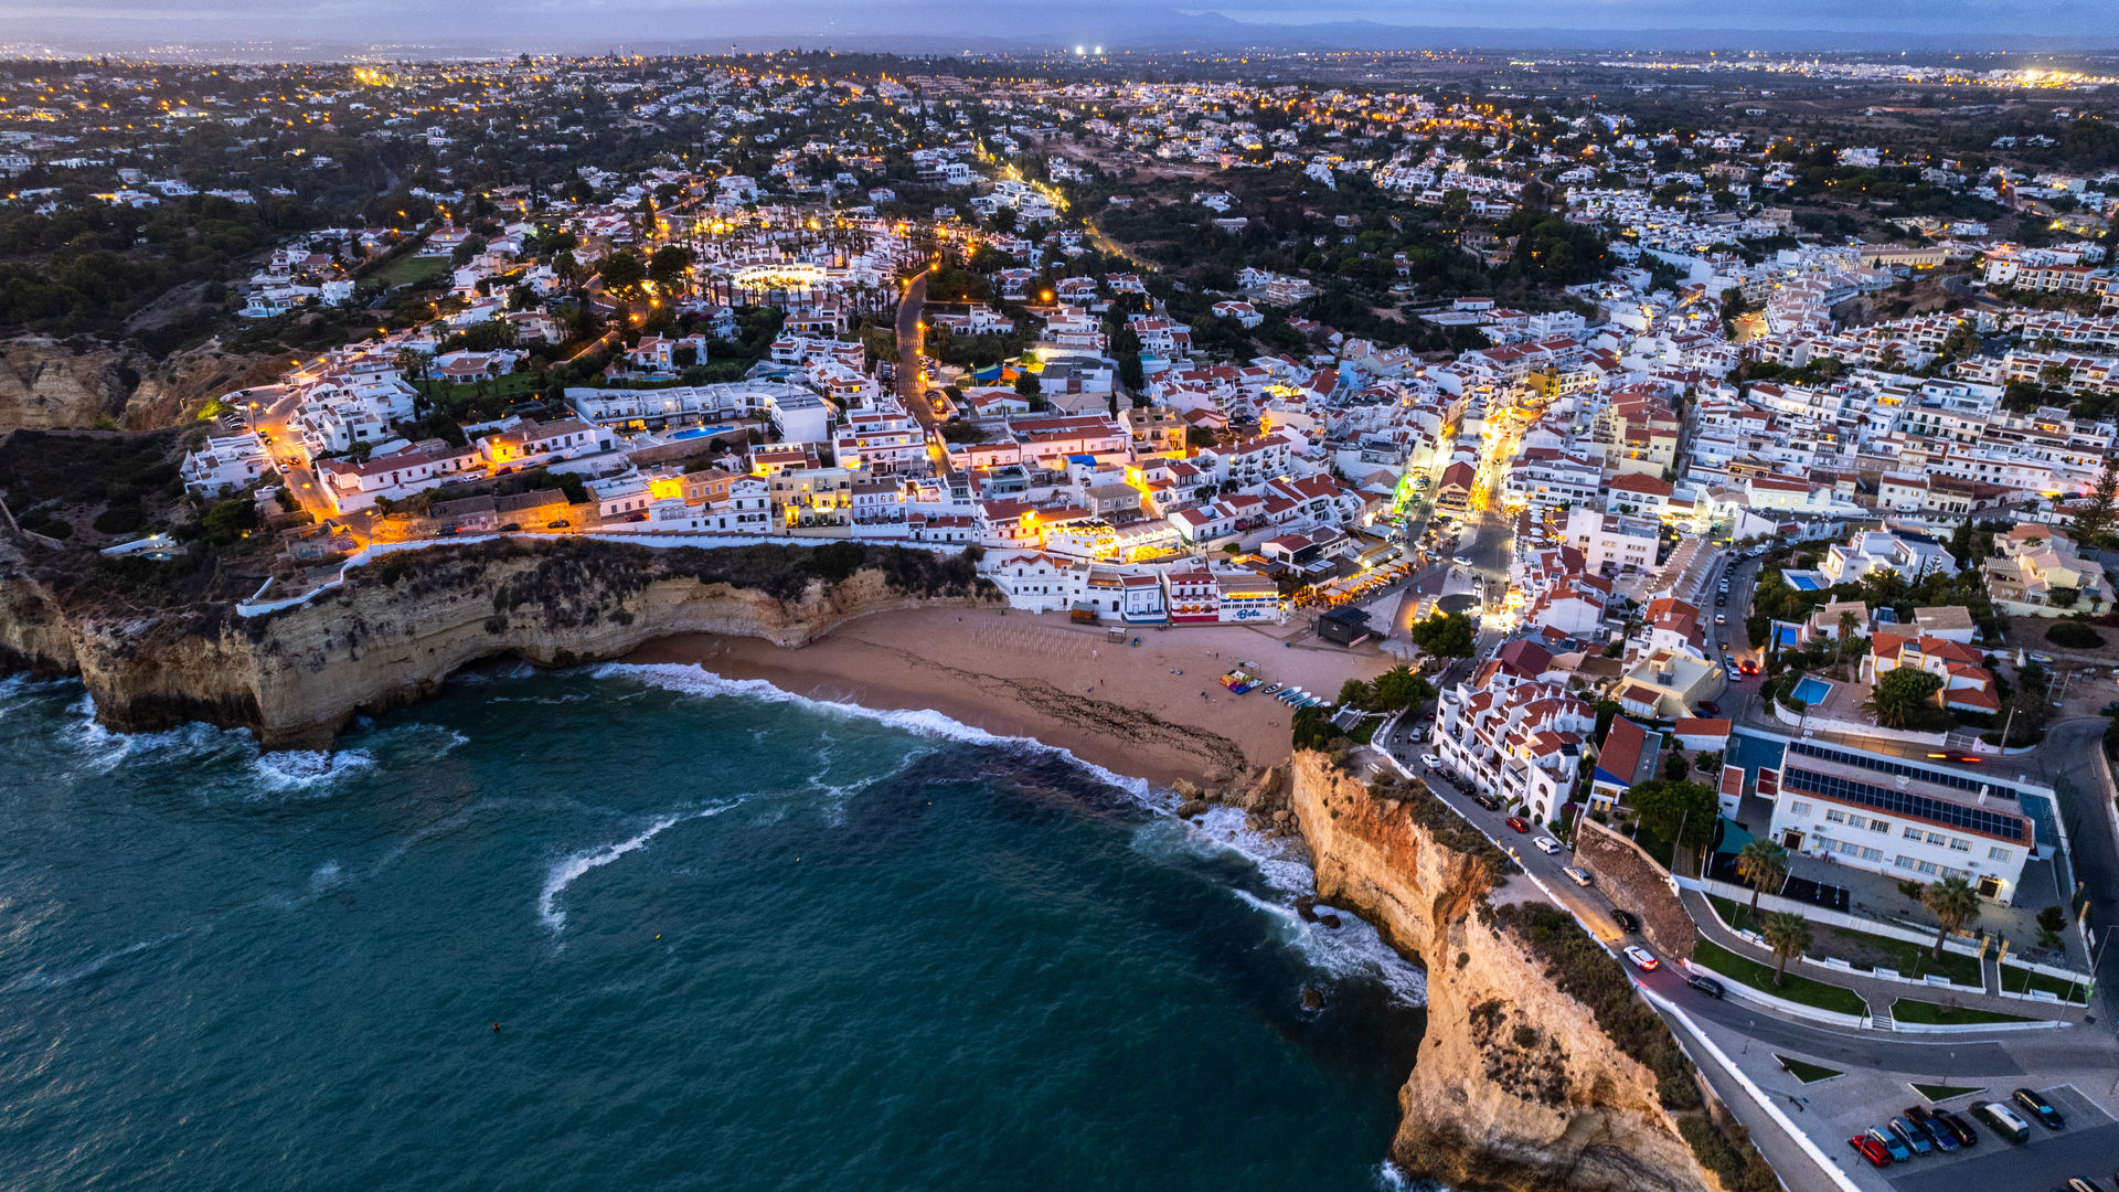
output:
[[[479,42],[604,51],[625,40],[771,38],[843,45],[862,38],[1017,47],[1093,38],[1112,49],[1174,42],[1240,45],[1276,36],[1360,38],[1369,45],[1468,45],[1464,30],[1579,30],[1593,42],[1619,30],[1778,30],[1860,34],[1865,45],[1981,49],[1994,38],[2066,38],[2119,47],[2119,0],[1320,0],[1163,6],[1140,0],[6,0],[0,40],[87,49],[259,38],[273,42]],[[1346,25],[1367,21],[1388,30]],[[1307,34],[1303,34],[1307,30]],[[1560,38],[1551,45],[1570,45]],[[1998,42],[1994,42],[1998,45]],[[756,49],[746,45],[746,49]],[[903,49],[903,47],[894,47]],[[968,49],[968,45],[966,45]],[[1822,49],[1822,47],[1820,47]]]

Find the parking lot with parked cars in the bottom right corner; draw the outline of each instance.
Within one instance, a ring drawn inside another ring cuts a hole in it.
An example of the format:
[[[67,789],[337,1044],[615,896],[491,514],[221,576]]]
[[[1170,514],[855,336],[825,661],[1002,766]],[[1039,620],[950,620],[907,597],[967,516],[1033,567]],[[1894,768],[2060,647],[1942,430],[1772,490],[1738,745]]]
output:
[[[2113,1188],[2119,1179],[2119,1122],[2091,1105],[2072,1084],[2038,1092],[2066,1116],[2066,1130],[2047,1130],[2030,1122],[2030,1141],[2011,1145],[1969,1111],[1969,1103],[2009,1101],[2007,1088],[1988,1088],[1949,1103],[1979,1133],[1979,1145],[1894,1162],[1882,1175],[1905,1192],[2051,1192],[2070,1175],[2089,1179],[2098,1188]]]

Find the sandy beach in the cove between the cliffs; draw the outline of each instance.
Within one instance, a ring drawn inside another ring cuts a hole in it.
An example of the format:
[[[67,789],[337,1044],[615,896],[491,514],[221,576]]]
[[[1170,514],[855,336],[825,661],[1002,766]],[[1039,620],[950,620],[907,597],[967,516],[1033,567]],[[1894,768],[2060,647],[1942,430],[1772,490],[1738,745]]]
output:
[[[996,609],[911,609],[848,621],[801,647],[689,634],[625,662],[699,664],[725,679],[869,708],[930,708],[1002,736],[1032,736],[1117,774],[1157,785],[1223,783],[1288,753],[1293,713],[1271,696],[1235,696],[1218,679],[1257,662],[1265,681],[1335,696],[1392,658],[1314,638],[1293,626],[1129,630]],[[1138,638],[1140,645],[1132,645]]]

